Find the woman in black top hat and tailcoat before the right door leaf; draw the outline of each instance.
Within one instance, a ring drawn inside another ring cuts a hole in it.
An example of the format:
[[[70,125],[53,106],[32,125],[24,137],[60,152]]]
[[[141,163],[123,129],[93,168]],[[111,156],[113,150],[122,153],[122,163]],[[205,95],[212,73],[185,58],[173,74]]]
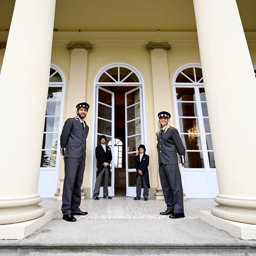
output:
[[[143,183],[143,197],[144,201],[149,198],[149,156],[145,154],[146,149],[143,144],[138,147],[139,155],[135,157],[136,176],[136,197],[133,200],[140,200],[141,186]]]

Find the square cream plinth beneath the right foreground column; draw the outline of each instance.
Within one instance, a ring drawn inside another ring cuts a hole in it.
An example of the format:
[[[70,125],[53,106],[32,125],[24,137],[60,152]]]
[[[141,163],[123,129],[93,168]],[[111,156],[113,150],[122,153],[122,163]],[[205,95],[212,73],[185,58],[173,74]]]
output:
[[[230,235],[245,240],[256,240],[256,225],[229,221],[214,216],[211,211],[201,211],[201,220],[228,232]]]

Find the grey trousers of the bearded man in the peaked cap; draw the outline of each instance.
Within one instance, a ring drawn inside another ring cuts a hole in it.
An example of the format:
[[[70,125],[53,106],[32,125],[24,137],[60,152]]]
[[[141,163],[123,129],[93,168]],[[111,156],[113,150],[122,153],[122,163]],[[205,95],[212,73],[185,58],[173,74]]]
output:
[[[62,213],[66,215],[79,210],[81,203],[81,185],[83,183],[85,160],[67,157],[65,162],[65,179],[62,192]]]

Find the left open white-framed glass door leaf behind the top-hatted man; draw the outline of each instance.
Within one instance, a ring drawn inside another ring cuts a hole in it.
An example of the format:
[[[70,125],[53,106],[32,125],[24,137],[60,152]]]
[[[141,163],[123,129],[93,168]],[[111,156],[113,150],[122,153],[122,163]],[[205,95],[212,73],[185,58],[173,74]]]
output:
[[[95,125],[95,139],[94,139],[94,155],[95,147],[100,145],[99,137],[105,135],[107,138],[106,145],[111,148],[112,162],[110,163],[111,177],[108,179],[108,194],[114,196],[114,93],[102,87],[96,87],[96,125]],[[97,176],[98,162],[94,156],[94,179],[93,186]],[[105,177],[104,177],[105,178]],[[99,197],[103,197],[103,187],[100,188]]]

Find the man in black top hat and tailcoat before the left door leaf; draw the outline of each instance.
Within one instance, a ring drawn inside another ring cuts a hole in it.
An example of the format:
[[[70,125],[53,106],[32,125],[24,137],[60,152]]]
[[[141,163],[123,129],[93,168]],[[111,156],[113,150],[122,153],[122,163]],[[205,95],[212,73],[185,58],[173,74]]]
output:
[[[99,191],[102,178],[104,177],[103,182],[103,198],[112,199],[108,195],[108,177],[111,175],[110,163],[112,161],[112,153],[110,147],[106,146],[107,138],[105,135],[99,137],[100,145],[95,148],[95,156],[98,160],[98,175],[94,185],[94,200],[99,200]]]

